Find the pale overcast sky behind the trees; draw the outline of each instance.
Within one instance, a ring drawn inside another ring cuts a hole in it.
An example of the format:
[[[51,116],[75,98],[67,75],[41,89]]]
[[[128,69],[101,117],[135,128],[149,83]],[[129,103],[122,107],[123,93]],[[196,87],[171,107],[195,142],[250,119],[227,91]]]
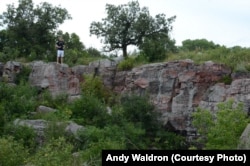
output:
[[[106,17],[105,5],[126,4],[130,0],[44,0],[54,6],[61,5],[72,16],[59,29],[76,33],[86,47],[101,49],[100,39],[90,37],[93,21]],[[44,2],[33,0],[35,4]],[[226,47],[250,47],[250,0],[138,0],[140,7],[148,7],[150,15],[159,13],[176,16],[171,37],[181,45],[186,39],[207,39]],[[6,4],[18,0],[0,0],[0,13]]]

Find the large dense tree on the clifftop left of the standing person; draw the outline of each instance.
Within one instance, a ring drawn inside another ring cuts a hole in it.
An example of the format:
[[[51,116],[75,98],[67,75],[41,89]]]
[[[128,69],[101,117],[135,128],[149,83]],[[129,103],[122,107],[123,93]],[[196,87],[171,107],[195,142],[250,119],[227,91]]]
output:
[[[44,58],[54,49],[55,30],[66,19],[71,19],[66,9],[47,2],[36,8],[32,0],[19,0],[17,8],[9,4],[0,17],[7,31],[8,40],[4,45],[17,49],[19,56],[34,54],[36,59]]]

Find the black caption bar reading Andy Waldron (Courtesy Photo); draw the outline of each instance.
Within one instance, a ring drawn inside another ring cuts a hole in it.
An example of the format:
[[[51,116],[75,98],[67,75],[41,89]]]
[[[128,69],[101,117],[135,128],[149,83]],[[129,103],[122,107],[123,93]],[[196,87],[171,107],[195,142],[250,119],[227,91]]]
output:
[[[249,150],[102,150],[102,165],[250,165]]]

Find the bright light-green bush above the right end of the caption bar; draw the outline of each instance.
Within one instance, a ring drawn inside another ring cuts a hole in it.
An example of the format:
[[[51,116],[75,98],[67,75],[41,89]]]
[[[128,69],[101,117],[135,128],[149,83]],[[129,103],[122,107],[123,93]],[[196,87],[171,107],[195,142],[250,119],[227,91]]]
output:
[[[194,127],[197,128],[205,149],[236,149],[239,138],[249,119],[243,110],[243,104],[234,106],[233,100],[218,104],[215,118],[208,111],[193,114]]]

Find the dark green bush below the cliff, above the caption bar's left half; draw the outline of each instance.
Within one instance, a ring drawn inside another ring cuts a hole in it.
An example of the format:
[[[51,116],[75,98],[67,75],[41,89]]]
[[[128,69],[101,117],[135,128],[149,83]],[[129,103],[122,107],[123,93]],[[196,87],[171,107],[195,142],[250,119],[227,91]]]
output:
[[[144,130],[145,133],[137,135],[130,133],[127,129],[123,129],[126,133],[129,133],[126,138],[130,139],[137,145],[137,148],[157,148],[157,149],[185,149],[185,139],[175,133],[166,131],[161,122],[158,120],[159,115],[155,110],[152,103],[149,102],[147,96],[123,96],[121,98],[121,106],[123,109],[123,118],[125,124],[133,123],[135,126],[132,131]],[[127,148],[135,149],[134,146],[128,146]]]

